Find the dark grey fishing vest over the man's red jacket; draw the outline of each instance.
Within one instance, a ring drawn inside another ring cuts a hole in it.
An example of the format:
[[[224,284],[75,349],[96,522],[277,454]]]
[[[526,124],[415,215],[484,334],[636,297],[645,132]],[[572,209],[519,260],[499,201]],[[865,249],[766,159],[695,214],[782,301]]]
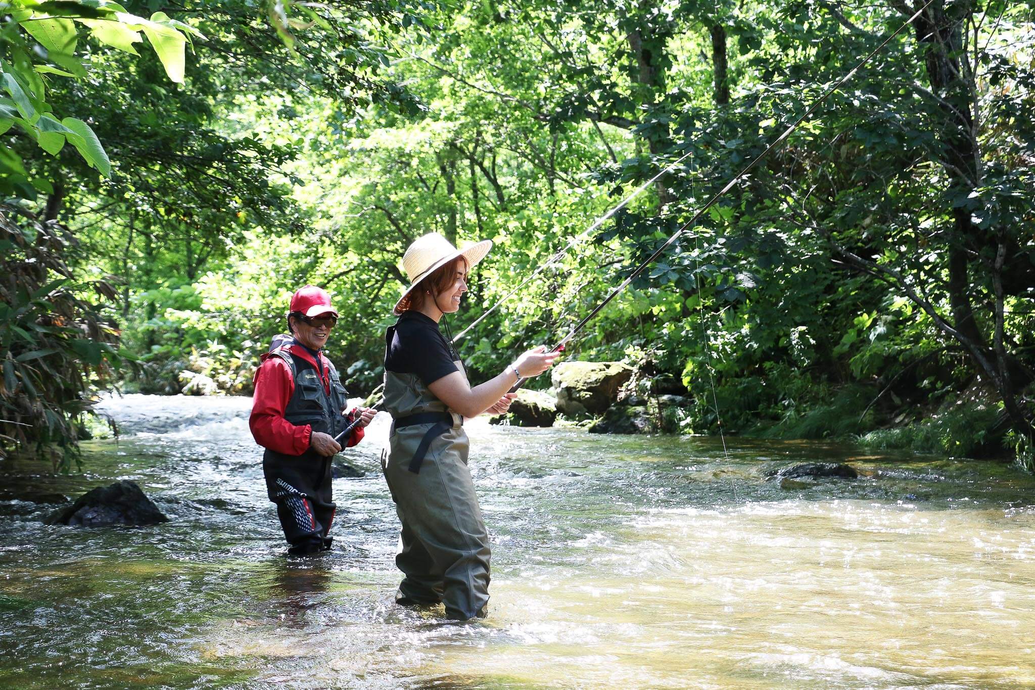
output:
[[[295,426],[308,424],[313,427],[314,432],[322,431],[335,437],[344,431],[345,427],[349,425],[349,420],[342,416],[342,410],[349,403],[349,393],[342,385],[334,365],[325,360],[328,379],[330,379],[330,393],[328,394],[324,389],[323,382],[320,381],[317,367],[305,358],[293,354],[288,348],[274,350],[270,356],[284,360],[291,371],[292,380],[295,382],[295,390],[284,410],[284,418]],[[291,459],[299,457],[324,459],[312,448],[306,449],[301,455],[282,455],[269,449],[266,449],[266,453]]]

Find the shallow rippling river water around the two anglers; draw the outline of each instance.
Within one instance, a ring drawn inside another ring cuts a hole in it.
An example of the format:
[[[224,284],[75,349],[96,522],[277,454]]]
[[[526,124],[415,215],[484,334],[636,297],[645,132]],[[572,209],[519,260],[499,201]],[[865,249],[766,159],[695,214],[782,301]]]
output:
[[[386,416],[345,453],[333,551],[289,560],[249,402],[113,398],[83,474],[0,463],[0,685],[1035,687],[1035,479],[1009,466],[475,420],[493,598],[450,624],[392,601]],[[811,460],[862,476],[767,480]],[[117,478],[171,521],[41,523]]]

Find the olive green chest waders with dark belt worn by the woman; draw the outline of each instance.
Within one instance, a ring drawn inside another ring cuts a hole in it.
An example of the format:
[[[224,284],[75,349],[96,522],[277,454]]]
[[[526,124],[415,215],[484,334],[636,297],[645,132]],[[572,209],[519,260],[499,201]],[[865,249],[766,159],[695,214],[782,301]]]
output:
[[[381,462],[403,523],[395,565],[406,575],[395,600],[441,601],[451,619],[484,616],[489,534],[467,467],[464,418],[414,373],[385,371],[384,407],[393,422]]]

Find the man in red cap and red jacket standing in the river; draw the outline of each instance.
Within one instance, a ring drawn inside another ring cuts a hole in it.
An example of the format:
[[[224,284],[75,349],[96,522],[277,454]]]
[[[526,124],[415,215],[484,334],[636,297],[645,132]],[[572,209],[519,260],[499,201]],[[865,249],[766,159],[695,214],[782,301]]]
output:
[[[248,426],[256,443],[266,449],[262,463],[266,490],[276,504],[292,556],[330,548],[327,533],[335,509],[330,460],[342,450],[334,438],[358,418],[356,429],[343,440],[355,446],[377,414],[363,408],[345,413],[348,393],[322,352],[335,323],[337,311],[330,295],[305,286],[291,298],[288,329],[292,337],[274,339],[256,373]]]

